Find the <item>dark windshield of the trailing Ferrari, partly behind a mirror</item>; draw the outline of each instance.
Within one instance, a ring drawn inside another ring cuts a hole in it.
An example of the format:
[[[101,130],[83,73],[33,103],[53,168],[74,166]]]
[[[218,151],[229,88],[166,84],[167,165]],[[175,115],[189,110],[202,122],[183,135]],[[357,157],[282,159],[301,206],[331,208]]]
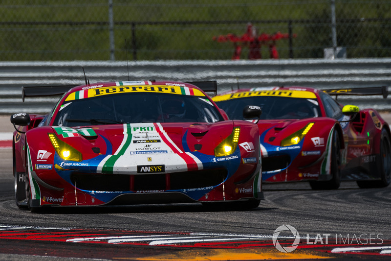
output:
[[[253,96],[216,102],[230,119],[244,119],[246,105],[258,105],[262,109],[261,119],[305,119],[320,117],[316,99],[280,96]]]

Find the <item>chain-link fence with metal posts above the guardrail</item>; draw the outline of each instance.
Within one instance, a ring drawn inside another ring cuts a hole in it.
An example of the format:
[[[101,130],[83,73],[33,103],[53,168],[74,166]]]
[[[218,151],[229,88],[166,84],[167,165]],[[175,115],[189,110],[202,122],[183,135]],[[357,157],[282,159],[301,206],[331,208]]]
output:
[[[391,57],[391,0],[2,0],[0,33],[1,61]]]

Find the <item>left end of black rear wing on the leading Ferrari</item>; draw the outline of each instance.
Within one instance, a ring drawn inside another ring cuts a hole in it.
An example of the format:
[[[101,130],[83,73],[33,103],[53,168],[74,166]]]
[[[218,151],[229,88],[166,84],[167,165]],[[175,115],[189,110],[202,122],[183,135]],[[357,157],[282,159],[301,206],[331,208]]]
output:
[[[77,85],[22,86],[22,101],[25,97],[63,95]]]

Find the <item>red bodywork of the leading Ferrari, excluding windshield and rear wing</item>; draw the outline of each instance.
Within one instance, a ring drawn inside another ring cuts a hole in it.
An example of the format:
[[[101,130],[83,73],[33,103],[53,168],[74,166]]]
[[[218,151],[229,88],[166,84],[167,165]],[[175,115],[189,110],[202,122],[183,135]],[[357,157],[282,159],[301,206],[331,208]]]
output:
[[[16,173],[26,173],[31,187],[30,205],[248,201],[263,197],[259,130],[254,123],[224,120],[223,115],[223,120],[209,123],[53,125],[56,114],[70,103],[88,99],[88,90],[107,97],[121,91],[141,90],[151,95],[175,91],[175,95],[198,95],[217,107],[190,84],[143,83],[141,87],[111,82],[73,88],[59,101],[53,115],[31,115],[32,123],[20,127],[25,134],[15,131]],[[162,87],[165,85],[168,87]],[[177,92],[179,87],[182,94]],[[236,149],[216,156],[217,146],[233,137],[236,129],[240,133]],[[65,159],[64,150],[68,155],[69,151],[71,155],[79,153],[80,159]]]

